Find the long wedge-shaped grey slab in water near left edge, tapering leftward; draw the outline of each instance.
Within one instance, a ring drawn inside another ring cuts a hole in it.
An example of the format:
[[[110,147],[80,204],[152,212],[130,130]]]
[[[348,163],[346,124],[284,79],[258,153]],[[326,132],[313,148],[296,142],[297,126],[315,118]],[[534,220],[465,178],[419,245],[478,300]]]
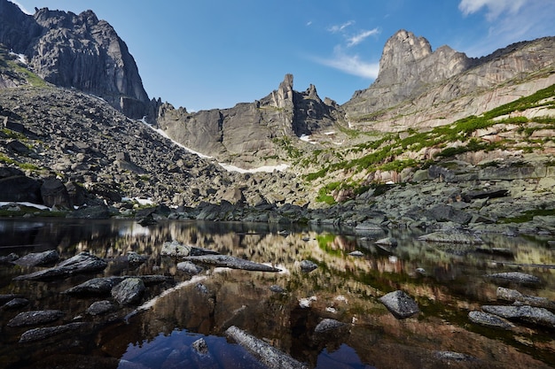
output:
[[[77,273],[91,273],[104,270],[108,264],[105,260],[91,255],[88,252],[82,252],[73,258],[59,263],[54,267],[44,269],[35,273],[24,274],[15,277],[16,281],[44,281]]]

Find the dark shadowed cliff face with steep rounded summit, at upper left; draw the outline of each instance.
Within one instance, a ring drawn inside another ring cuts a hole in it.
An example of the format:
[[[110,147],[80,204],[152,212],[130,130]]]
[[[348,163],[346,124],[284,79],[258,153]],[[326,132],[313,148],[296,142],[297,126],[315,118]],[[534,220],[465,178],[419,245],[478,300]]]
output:
[[[45,81],[101,96],[130,118],[154,112],[127,45],[94,12],[77,15],[43,8],[29,16],[3,0],[0,42],[24,54],[28,66]]]

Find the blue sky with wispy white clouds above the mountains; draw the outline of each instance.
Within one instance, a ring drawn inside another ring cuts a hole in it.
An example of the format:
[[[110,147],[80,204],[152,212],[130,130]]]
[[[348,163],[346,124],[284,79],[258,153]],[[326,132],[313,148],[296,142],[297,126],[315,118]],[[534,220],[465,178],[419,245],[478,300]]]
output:
[[[555,35],[555,0],[12,0],[106,19],[135,58],[146,92],[188,111],[268,95],[293,73],[343,104],[368,88],[399,29],[469,57]]]

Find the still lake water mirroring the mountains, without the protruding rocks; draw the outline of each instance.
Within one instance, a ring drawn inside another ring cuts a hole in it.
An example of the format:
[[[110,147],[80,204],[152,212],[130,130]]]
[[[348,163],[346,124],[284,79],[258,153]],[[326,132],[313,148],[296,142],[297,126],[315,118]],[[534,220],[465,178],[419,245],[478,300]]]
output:
[[[553,331],[517,323],[505,332],[471,323],[469,311],[496,301],[496,281],[486,273],[517,270],[514,264],[553,265],[555,250],[547,236],[504,237],[482,234],[485,247],[510,253],[477,252],[475,246],[418,242],[418,233],[384,230],[356,234],[353,229],[324,229],[244,223],[160,221],[141,227],[129,220],[0,220],[0,257],[15,252],[56,249],[61,258],[87,250],[109,263],[103,273],[60,281],[12,281],[40,268],[0,265],[0,295],[25,296],[30,304],[2,311],[0,366],[121,368],[258,368],[265,367],[238,344],[225,338],[236,326],[293,358],[317,368],[488,367],[543,368],[555,363]],[[375,245],[394,236],[395,248]],[[179,271],[178,260],[163,257],[163,242],[176,240],[226,255],[268,263],[281,273],[205,267],[197,280]],[[349,256],[360,250],[362,257]],[[488,249],[489,250],[489,249]],[[145,263],[130,265],[122,257],[135,251]],[[301,260],[318,267],[302,273]],[[496,262],[494,262],[494,260]],[[502,264],[504,262],[504,264]],[[540,288],[509,286],[531,296],[555,300],[555,270],[520,267],[540,277]],[[172,286],[147,286],[143,309],[125,307],[104,317],[84,311],[109,296],[61,294],[93,277],[164,274]],[[270,286],[284,288],[272,292]],[[402,289],[420,313],[398,320],[378,298]],[[300,301],[309,304],[301,307]],[[7,327],[20,311],[60,309],[63,322],[90,321],[74,336],[19,343],[27,328]],[[124,319],[126,318],[127,319]],[[324,318],[348,324],[341,334],[316,334]],[[200,338],[207,354],[193,350]],[[452,351],[472,359],[448,360]],[[75,365],[79,363],[79,365]]]

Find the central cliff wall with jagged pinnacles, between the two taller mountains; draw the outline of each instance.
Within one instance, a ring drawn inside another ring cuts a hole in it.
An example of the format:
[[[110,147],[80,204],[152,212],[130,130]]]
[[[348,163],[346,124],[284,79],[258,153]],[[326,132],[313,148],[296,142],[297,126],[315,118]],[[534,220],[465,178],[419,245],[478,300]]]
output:
[[[293,90],[293,75],[286,74],[276,90],[254,103],[195,113],[164,104],[157,120],[184,146],[252,168],[277,164],[289,139],[331,129],[340,117],[337,104],[323,102],[313,85],[304,92]]]

